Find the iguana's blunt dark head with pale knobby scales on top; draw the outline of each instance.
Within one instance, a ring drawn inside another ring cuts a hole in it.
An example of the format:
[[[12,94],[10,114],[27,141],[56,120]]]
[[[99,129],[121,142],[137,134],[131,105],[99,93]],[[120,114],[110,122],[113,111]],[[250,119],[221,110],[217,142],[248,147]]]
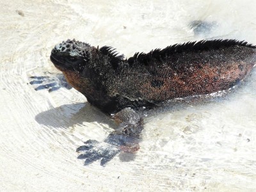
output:
[[[55,67],[62,72],[67,70],[82,72],[86,63],[90,61],[91,49],[89,44],[68,39],[55,45],[50,58]]]

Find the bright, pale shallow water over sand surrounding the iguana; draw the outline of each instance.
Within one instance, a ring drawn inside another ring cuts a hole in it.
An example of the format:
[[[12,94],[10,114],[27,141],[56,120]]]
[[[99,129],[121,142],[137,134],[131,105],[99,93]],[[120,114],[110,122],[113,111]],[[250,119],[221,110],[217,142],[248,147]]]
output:
[[[1,191],[256,189],[255,70],[225,97],[146,117],[140,151],[106,167],[83,166],[76,148],[104,140],[116,127],[109,117],[74,89],[29,84],[31,76],[56,82],[49,55],[67,38],[111,45],[127,57],[202,38],[256,44],[255,1],[0,2]]]

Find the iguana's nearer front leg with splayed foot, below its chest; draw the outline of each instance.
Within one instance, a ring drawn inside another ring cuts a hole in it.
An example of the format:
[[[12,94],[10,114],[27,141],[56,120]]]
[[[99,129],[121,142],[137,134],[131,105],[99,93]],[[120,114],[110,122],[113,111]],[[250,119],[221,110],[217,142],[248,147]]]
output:
[[[143,118],[130,108],[125,108],[114,115],[119,123],[118,129],[111,132],[103,141],[88,140],[77,148],[81,153],[77,158],[86,159],[84,165],[101,159],[100,165],[108,163],[121,151],[136,152],[139,150],[140,133],[143,130]]]

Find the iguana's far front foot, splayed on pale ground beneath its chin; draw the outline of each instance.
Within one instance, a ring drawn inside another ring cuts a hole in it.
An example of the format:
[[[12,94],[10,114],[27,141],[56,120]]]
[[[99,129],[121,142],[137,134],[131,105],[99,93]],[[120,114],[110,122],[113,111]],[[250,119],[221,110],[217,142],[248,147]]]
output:
[[[72,87],[67,83],[65,77],[62,74],[57,74],[55,77],[49,76],[32,76],[29,77],[31,81],[29,82],[32,85],[35,85],[35,90],[45,90],[49,92],[56,91],[61,87],[65,87],[70,90]]]

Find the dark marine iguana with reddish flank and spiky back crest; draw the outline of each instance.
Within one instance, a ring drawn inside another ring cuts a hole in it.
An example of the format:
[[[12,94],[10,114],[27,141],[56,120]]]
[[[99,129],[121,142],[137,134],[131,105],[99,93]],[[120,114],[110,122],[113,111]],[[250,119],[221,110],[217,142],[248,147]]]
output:
[[[136,109],[166,100],[227,90],[256,62],[256,46],[237,40],[201,40],[170,45],[125,59],[112,47],[67,40],[52,49],[51,61],[88,102],[120,123],[103,142],[77,148],[84,164],[104,165],[120,150],[138,150],[143,118]],[[135,111],[134,111],[135,110]]]

